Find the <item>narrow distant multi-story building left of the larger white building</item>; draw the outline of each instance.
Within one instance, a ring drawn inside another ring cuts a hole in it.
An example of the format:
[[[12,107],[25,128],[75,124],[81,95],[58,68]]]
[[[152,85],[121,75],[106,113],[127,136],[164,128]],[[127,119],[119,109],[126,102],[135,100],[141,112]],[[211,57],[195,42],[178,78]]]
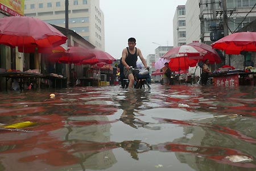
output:
[[[173,19],[174,47],[186,44],[186,9],[185,5],[176,8]]]

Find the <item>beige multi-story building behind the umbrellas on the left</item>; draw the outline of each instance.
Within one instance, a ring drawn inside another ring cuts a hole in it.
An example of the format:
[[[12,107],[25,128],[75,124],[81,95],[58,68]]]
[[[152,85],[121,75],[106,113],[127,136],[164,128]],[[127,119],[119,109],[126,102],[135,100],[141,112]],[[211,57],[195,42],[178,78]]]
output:
[[[25,0],[24,14],[65,27],[65,1]],[[100,9],[100,0],[69,1],[68,21],[70,30],[105,50],[104,13]]]

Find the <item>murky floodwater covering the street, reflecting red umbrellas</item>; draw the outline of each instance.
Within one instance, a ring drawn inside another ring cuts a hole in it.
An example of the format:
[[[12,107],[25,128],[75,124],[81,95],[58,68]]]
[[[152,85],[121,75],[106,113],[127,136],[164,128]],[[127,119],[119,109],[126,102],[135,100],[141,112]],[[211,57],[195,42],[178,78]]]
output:
[[[0,171],[256,170],[256,87],[151,87],[1,92]]]

